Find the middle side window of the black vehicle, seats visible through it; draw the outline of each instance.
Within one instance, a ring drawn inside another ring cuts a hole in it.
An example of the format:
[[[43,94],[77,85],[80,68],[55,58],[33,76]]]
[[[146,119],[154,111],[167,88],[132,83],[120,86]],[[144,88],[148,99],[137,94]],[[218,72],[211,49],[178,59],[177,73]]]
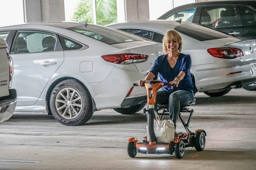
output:
[[[241,25],[242,20],[235,5],[208,6],[202,8],[200,24],[212,28],[233,27]]]

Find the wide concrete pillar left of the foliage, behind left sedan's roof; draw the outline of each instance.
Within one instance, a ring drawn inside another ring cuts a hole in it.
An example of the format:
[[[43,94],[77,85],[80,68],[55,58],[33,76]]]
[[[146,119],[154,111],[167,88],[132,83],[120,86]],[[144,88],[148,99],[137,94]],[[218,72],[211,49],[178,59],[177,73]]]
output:
[[[25,22],[64,21],[64,0],[23,0]]]

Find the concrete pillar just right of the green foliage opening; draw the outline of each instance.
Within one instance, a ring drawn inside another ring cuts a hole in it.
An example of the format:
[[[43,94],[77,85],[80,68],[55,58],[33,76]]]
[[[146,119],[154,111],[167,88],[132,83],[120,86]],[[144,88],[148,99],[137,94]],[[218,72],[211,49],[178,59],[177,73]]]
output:
[[[125,0],[126,21],[148,20],[148,0]]]

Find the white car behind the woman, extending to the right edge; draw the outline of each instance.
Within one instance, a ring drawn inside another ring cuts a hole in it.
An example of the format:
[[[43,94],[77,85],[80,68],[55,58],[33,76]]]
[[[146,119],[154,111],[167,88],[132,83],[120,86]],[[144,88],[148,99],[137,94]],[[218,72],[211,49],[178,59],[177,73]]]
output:
[[[201,25],[167,20],[110,24],[156,42],[167,29],[175,29],[183,39],[182,53],[192,58],[191,72],[196,88],[209,96],[222,96],[232,88],[256,82],[256,40],[242,40]]]

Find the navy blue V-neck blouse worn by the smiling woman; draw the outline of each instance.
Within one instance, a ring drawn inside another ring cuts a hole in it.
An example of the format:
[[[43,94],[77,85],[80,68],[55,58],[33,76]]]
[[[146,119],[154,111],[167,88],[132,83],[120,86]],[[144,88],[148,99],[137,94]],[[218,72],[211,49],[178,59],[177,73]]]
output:
[[[193,82],[190,74],[191,69],[191,57],[188,54],[180,53],[180,56],[177,58],[176,65],[172,68],[167,60],[167,54],[159,56],[155,62],[150,72],[152,72],[156,77],[159,75],[159,78],[162,82],[171,82],[175,77],[184,71],[185,77],[179,82],[178,87],[171,89],[171,86],[164,86],[163,88],[166,91],[174,92],[177,90],[186,90],[193,94]]]

